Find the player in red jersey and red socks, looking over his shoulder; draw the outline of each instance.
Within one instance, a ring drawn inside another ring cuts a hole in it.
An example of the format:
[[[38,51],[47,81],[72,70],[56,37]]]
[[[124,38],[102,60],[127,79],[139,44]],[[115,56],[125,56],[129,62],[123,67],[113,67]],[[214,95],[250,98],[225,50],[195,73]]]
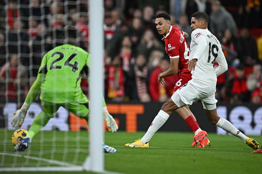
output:
[[[157,15],[155,19],[155,26],[157,28],[157,32],[161,35],[164,35],[166,52],[169,55],[171,63],[169,70],[162,72],[159,75],[158,82],[159,84],[163,84],[163,77],[171,76],[179,72],[179,80],[177,81],[173,90],[175,92],[192,79],[191,71],[189,71],[187,68],[190,49],[185,42],[185,38],[188,37],[188,34],[181,31],[175,25],[171,26],[170,16],[167,13],[160,13]],[[177,109],[176,112],[183,118],[188,127],[190,127],[192,132],[195,134],[191,147],[202,147],[203,144],[206,146],[207,143],[210,143],[206,140],[200,143],[202,139],[206,138],[207,133],[206,131],[200,129],[196,118],[189,109],[189,106],[184,106],[180,109]]]

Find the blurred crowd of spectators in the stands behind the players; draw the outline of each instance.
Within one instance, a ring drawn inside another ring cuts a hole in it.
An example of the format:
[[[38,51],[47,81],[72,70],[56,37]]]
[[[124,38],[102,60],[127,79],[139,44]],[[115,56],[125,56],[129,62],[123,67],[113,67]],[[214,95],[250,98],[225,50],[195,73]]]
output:
[[[169,13],[171,24],[190,35],[190,16],[196,11],[209,15],[208,29],[219,39],[229,65],[217,79],[217,100],[262,104],[260,0],[104,0],[106,100],[165,102],[179,79],[174,75],[158,84],[170,61],[155,16]],[[77,28],[79,47],[88,51],[92,44],[86,0],[0,0],[0,14],[1,96],[24,99],[44,54],[62,44],[64,26]],[[190,46],[191,37],[186,42]],[[82,88],[88,89],[85,78]]]

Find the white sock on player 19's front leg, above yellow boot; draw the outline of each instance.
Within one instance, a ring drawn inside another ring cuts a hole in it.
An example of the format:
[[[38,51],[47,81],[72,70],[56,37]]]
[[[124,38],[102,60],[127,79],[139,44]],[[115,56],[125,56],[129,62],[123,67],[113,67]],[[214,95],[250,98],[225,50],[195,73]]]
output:
[[[157,132],[157,130],[164,125],[168,118],[169,115],[166,112],[160,110],[149,126],[146,134],[141,138],[142,143],[147,143],[148,141],[150,141],[155,132]]]

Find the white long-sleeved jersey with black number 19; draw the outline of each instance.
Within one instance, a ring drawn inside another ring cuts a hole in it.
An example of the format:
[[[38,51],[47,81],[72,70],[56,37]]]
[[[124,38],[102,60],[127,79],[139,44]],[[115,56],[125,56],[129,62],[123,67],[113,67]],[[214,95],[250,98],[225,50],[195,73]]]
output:
[[[219,41],[208,29],[194,30],[191,38],[189,60],[197,59],[195,70],[191,72],[192,79],[216,86],[217,76],[227,70],[226,58]],[[215,60],[220,66],[216,70],[213,68]]]

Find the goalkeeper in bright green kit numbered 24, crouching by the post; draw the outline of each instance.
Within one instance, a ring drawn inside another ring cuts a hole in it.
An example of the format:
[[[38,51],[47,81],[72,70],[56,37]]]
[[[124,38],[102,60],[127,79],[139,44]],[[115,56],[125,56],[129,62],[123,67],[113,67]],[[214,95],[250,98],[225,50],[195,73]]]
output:
[[[67,33],[66,33],[67,32]],[[64,45],[47,52],[42,59],[36,81],[31,86],[21,109],[15,111],[11,124],[18,129],[22,126],[30,104],[40,93],[42,111],[33,120],[26,137],[15,146],[15,151],[26,150],[35,134],[44,127],[50,118],[55,116],[60,106],[79,118],[88,120],[89,101],[81,90],[80,83],[83,73],[88,75],[90,54],[76,47],[76,29],[67,26],[64,29]],[[103,118],[107,128],[116,132],[118,125],[103,104]],[[103,143],[104,152],[116,153],[116,149]]]

